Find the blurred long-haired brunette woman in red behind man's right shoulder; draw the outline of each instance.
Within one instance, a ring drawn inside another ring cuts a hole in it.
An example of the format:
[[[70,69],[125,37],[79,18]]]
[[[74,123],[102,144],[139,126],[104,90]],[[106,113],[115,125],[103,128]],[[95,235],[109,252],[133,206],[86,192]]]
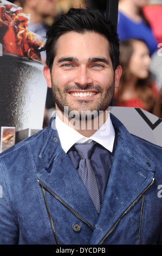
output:
[[[144,41],[126,39],[120,43],[122,76],[115,92],[115,105],[139,107],[151,112],[158,90],[149,77],[151,58]]]

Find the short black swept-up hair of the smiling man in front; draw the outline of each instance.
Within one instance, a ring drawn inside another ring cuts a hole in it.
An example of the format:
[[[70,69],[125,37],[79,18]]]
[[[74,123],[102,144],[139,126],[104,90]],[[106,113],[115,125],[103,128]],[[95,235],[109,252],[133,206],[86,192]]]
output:
[[[47,31],[46,41],[46,64],[50,68],[56,54],[57,39],[67,32],[85,33],[96,32],[105,35],[109,41],[109,54],[112,60],[113,69],[119,65],[119,39],[115,27],[110,21],[106,21],[105,16],[95,9],[69,9],[67,14],[63,14],[51,25]]]

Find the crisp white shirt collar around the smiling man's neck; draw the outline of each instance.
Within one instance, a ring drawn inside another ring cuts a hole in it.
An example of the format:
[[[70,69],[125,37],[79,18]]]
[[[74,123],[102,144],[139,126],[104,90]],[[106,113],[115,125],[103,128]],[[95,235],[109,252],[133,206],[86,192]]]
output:
[[[91,142],[91,140],[99,143],[107,150],[113,151],[115,131],[109,113],[105,123],[90,137],[85,137],[68,126],[57,114],[55,126],[60,138],[61,147],[65,153],[67,153],[75,143]]]

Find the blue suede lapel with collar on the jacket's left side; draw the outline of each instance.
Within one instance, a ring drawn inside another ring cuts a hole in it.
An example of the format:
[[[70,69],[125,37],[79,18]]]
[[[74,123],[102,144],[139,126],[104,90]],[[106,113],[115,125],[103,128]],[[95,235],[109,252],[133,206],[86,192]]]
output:
[[[98,220],[98,213],[77,170],[61,148],[56,130],[50,129],[47,143],[40,153],[40,159],[43,161],[43,168],[37,173],[37,179],[94,227]]]

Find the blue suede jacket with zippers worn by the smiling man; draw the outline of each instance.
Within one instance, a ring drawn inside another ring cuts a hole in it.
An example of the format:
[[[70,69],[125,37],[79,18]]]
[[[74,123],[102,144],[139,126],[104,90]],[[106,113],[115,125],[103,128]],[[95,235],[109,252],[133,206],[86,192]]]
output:
[[[0,155],[1,244],[162,243],[162,148],[111,120],[118,142],[99,215],[52,120]]]

